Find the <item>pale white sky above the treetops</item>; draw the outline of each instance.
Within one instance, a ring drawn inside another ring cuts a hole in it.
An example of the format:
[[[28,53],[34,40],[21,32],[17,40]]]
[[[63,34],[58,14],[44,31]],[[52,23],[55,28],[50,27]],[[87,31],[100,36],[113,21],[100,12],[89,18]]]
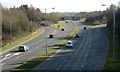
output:
[[[52,8],[54,10],[48,9],[47,12],[81,12],[81,11],[99,11],[105,10],[106,7],[101,5],[116,4],[120,0],[0,0],[2,6],[5,8],[19,7],[22,4],[27,4],[28,6],[33,5],[35,8]],[[109,7],[109,6],[107,6]],[[41,9],[43,12],[44,10]]]

